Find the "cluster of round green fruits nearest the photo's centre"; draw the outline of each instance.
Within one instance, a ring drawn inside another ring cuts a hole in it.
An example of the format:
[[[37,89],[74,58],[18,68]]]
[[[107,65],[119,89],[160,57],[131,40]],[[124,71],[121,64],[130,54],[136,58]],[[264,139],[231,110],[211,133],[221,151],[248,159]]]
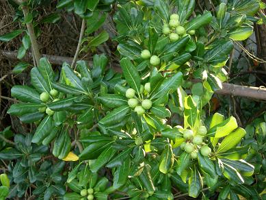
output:
[[[149,92],[150,83],[146,83],[144,86],[140,86],[139,95],[148,95]],[[126,97],[129,99],[127,101],[129,107],[134,109],[134,111],[137,112],[139,116],[142,116],[142,114],[144,114],[146,110],[149,110],[152,107],[152,101],[150,101],[150,99],[137,98],[135,96],[135,90],[133,90],[132,88],[127,89]]]

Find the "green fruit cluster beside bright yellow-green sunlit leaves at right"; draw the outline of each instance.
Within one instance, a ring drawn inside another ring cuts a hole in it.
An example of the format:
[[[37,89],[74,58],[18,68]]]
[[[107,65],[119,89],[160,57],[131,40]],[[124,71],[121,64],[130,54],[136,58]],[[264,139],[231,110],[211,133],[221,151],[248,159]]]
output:
[[[194,135],[191,129],[183,130],[183,138],[185,142],[181,144],[181,149],[191,155],[192,159],[198,158],[198,149],[203,156],[208,156],[211,153],[211,148],[203,142],[204,136],[207,134],[207,128],[200,126],[198,132]]]

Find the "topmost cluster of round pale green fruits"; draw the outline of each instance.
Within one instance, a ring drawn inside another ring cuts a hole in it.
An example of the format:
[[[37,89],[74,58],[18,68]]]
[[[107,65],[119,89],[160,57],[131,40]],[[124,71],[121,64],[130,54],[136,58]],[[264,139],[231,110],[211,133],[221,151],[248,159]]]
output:
[[[162,33],[165,36],[169,35],[169,38],[172,42],[175,42],[176,40],[178,40],[179,36],[184,36],[186,34],[185,27],[180,25],[178,14],[172,14],[170,16],[169,23],[165,23],[163,25]],[[187,33],[189,35],[194,35],[195,30],[190,30]]]

